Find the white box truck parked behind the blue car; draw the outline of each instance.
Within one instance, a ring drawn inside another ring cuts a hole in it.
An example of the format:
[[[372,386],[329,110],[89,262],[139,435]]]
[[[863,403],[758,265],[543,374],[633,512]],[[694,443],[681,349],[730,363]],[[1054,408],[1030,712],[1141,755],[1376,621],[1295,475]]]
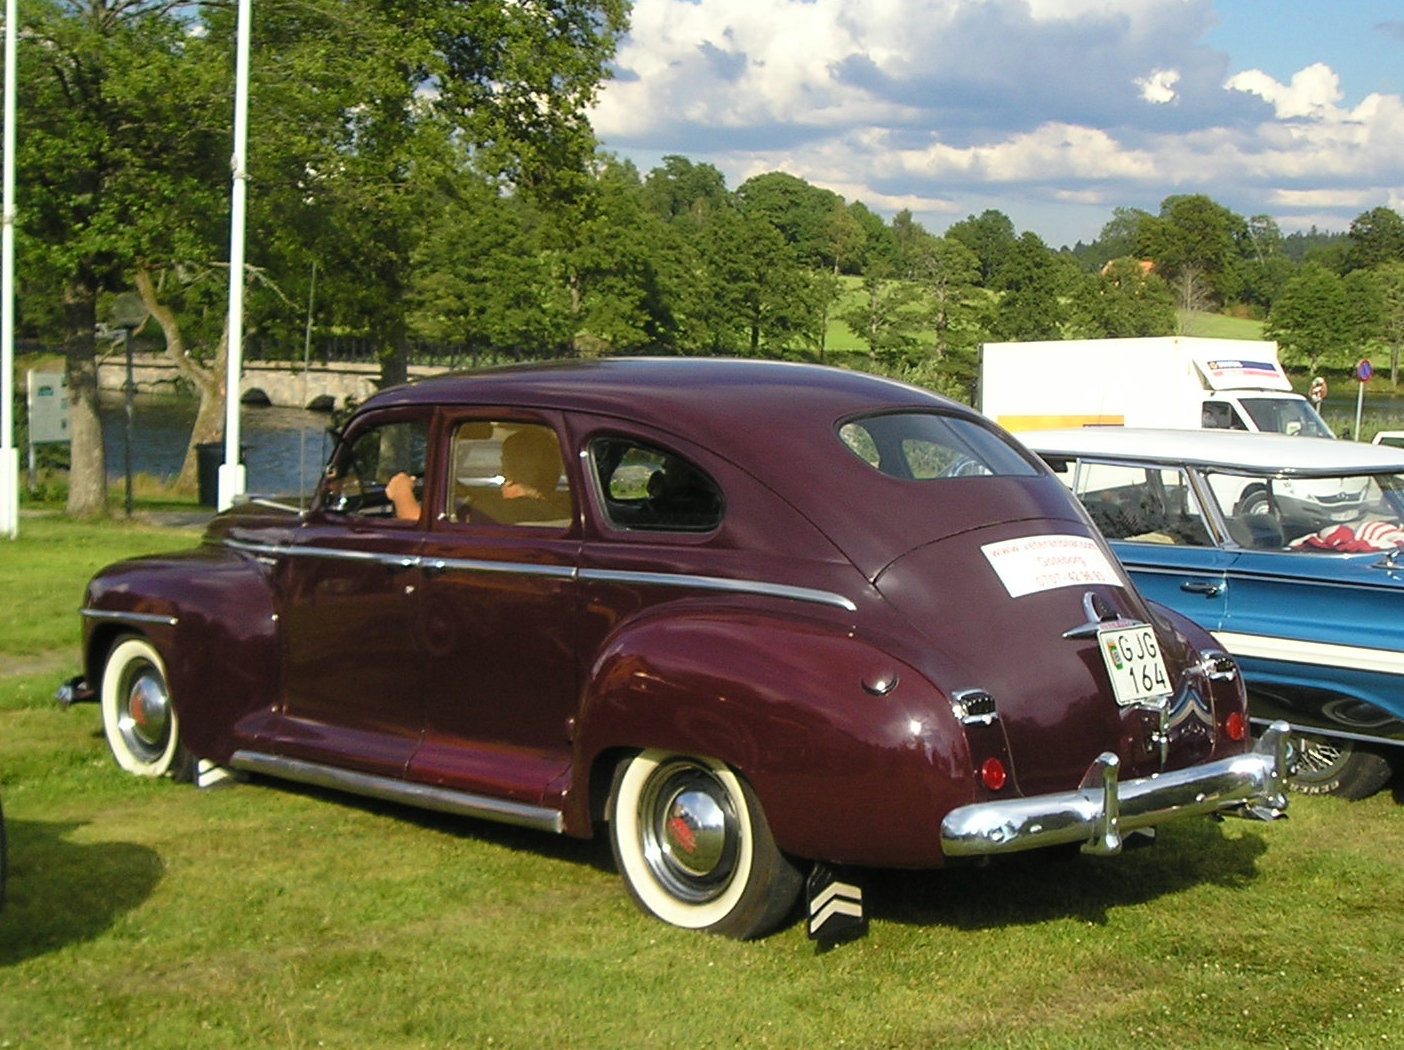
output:
[[[1251,340],[986,343],[979,408],[1015,432],[1171,427],[1334,437],[1311,403],[1292,393],[1278,344]]]

